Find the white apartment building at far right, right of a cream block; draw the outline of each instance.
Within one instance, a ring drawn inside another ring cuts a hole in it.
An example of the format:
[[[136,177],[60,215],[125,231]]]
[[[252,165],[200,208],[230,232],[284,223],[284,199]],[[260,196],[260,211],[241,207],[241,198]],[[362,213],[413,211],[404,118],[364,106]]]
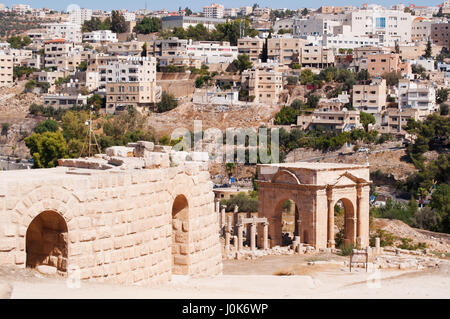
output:
[[[420,83],[401,79],[396,88],[398,108],[401,111],[417,109],[419,111],[435,112],[436,90],[429,83]]]

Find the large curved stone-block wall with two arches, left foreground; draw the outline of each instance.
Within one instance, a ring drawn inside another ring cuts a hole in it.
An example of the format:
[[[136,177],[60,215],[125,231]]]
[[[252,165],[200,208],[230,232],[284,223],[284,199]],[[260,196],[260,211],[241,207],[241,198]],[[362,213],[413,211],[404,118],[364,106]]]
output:
[[[127,284],[219,274],[207,154],[131,146],[0,172],[0,264]]]

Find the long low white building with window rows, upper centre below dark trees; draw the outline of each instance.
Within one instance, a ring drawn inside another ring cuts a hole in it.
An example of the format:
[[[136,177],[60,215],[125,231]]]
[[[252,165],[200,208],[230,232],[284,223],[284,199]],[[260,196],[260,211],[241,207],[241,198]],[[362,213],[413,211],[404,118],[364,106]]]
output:
[[[229,42],[192,42],[190,39],[186,50],[189,57],[198,57],[204,64],[231,63],[238,56],[238,47]]]

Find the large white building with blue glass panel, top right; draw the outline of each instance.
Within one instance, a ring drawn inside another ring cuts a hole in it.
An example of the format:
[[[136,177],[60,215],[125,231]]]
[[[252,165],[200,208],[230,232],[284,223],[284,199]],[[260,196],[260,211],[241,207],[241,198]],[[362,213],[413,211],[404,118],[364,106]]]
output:
[[[394,46],[397,41],[411,41],[412,21],[410,13],[369,5],[348,13],[344,25],[351,26],[353,35],[377,36],[380,44]]]

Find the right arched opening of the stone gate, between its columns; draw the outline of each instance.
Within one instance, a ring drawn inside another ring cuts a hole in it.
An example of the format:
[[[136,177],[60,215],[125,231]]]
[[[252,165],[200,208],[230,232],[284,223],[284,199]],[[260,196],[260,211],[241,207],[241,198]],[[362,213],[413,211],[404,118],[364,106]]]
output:
[[[334,234],[336,247],[356,244],[356,216],[349,199],[341,198],[334,205]]]

